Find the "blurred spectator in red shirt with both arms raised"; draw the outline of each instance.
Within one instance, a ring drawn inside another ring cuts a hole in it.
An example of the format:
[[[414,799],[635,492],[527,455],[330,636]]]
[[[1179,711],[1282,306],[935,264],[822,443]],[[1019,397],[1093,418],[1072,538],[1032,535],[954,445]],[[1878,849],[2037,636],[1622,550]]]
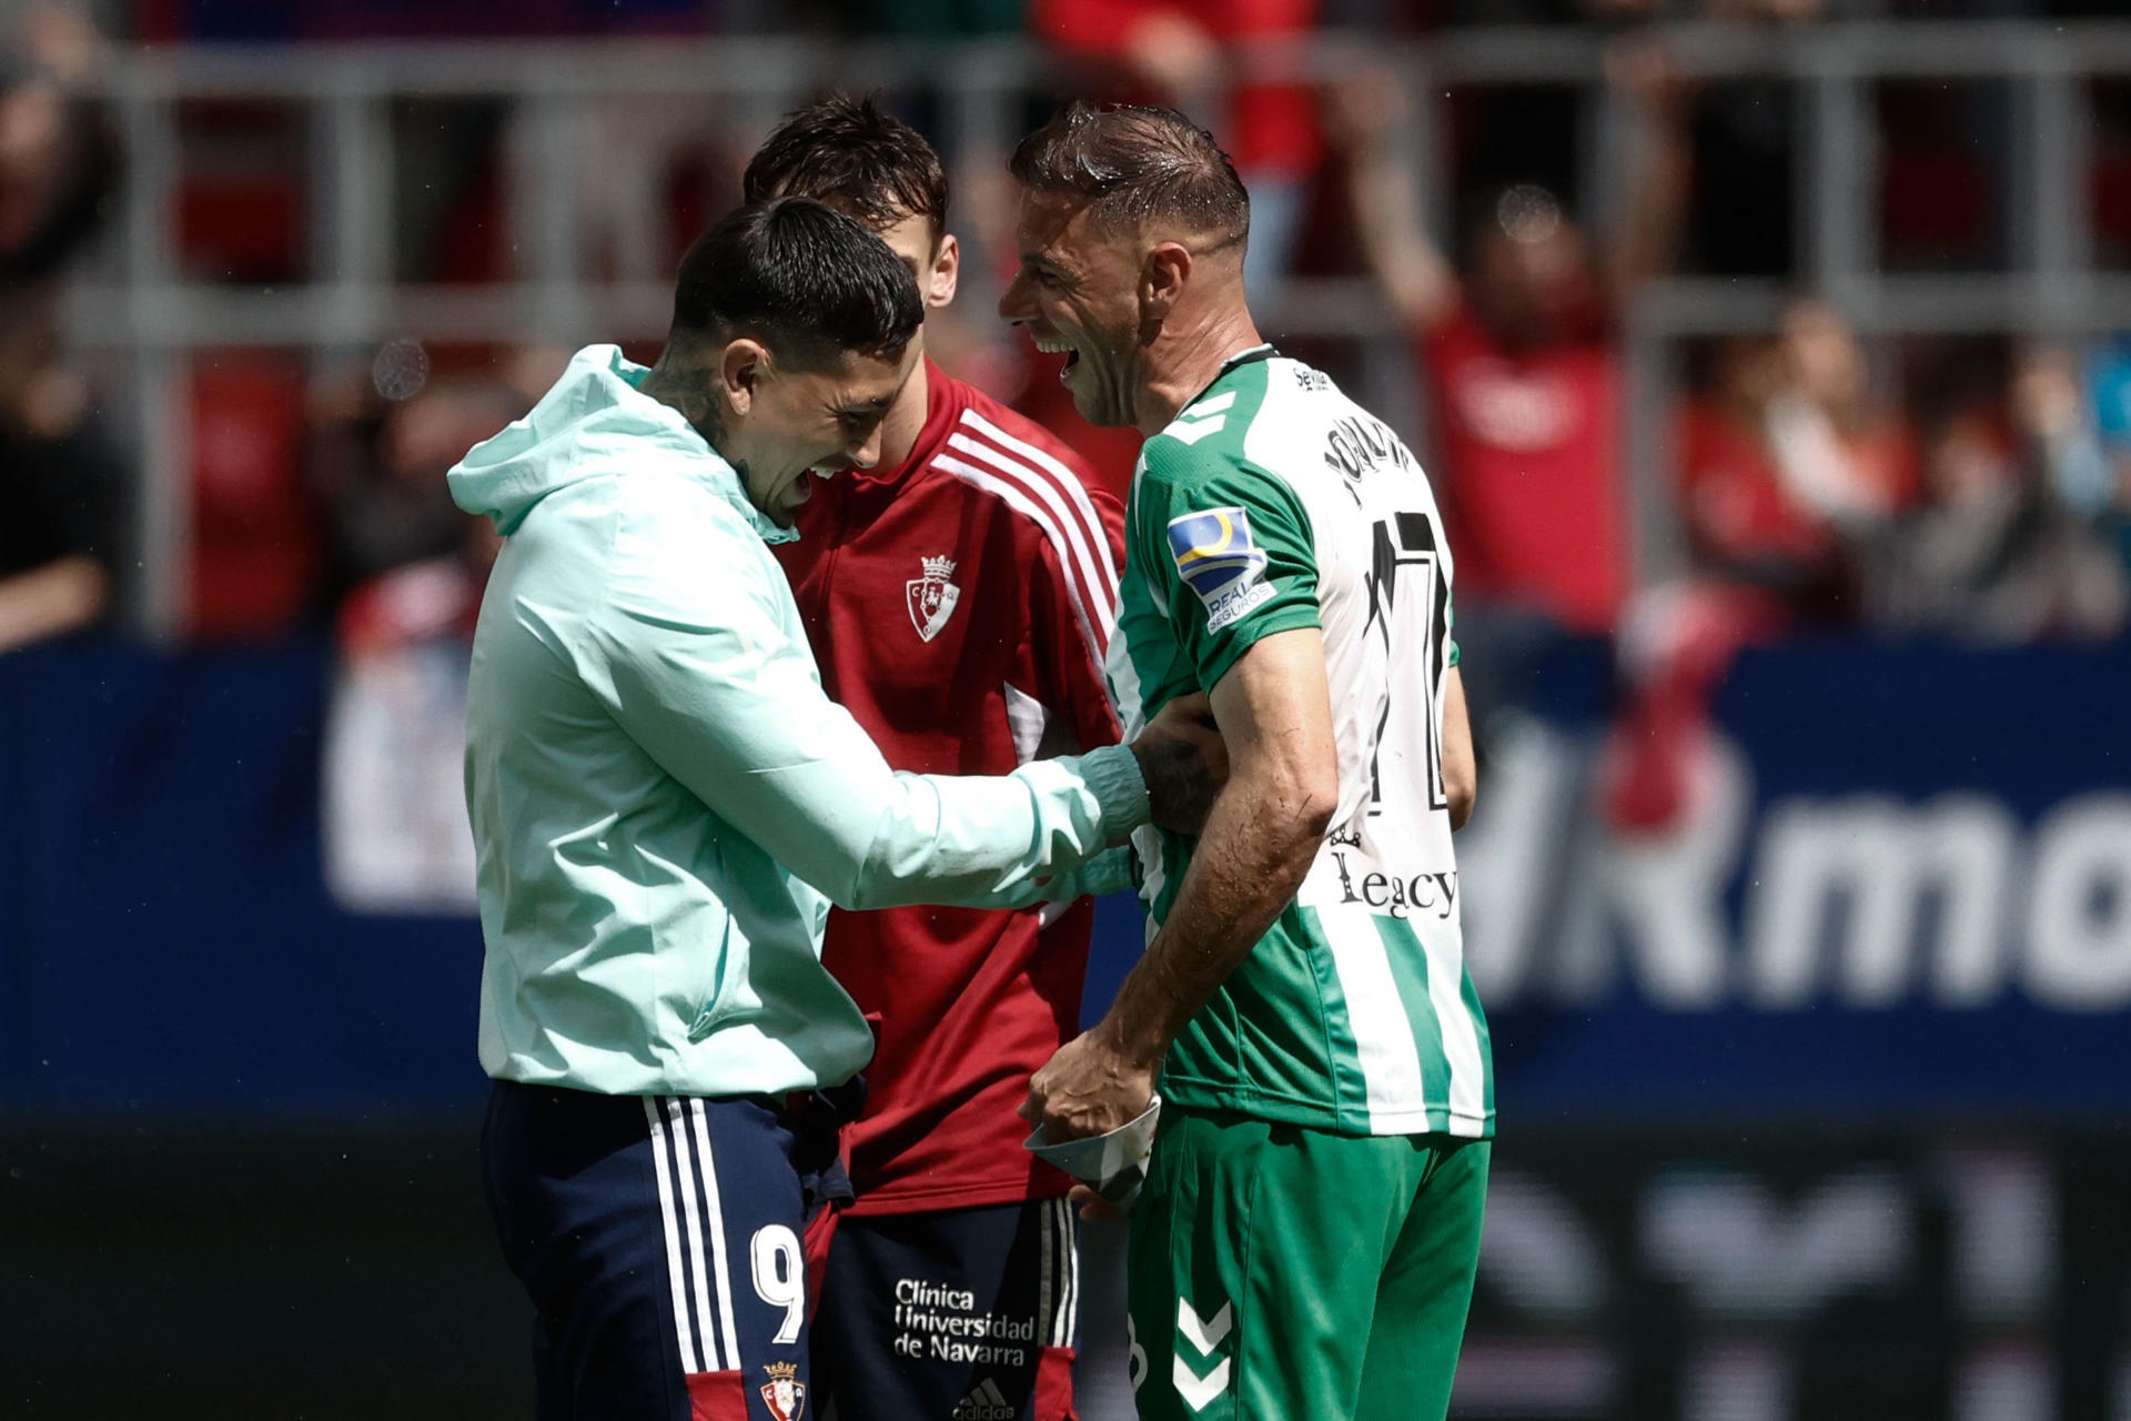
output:
[[[1473,211],[1464,268],[1421,224],[1400,151],[1411,130],[1400,77],[1364,72],[1328,89],[1355,236],[1419,339],[1468,648],[1487,639],[1481,609],[1498,624],[1536,614],[1611,635],[1630,592],[1620,324],[1671,266],[1690,153],[1662,49],[1611,47],[1607,85],[1632,119],[1609,241],[1594,243],[1547,190],[1517,183]],[[1475,714],[1487,709],[1475,688]]]

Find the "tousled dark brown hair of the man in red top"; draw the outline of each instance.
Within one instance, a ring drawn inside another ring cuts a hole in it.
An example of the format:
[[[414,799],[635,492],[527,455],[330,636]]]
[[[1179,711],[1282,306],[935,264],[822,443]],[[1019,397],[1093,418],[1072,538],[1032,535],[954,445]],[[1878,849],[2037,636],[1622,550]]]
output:
[[[929,217],[946,232],[946,168],[918,130],[882,111],[874,96],[829,94],[793,109],[748,160],[748,202],[814,198],[876,232]]]

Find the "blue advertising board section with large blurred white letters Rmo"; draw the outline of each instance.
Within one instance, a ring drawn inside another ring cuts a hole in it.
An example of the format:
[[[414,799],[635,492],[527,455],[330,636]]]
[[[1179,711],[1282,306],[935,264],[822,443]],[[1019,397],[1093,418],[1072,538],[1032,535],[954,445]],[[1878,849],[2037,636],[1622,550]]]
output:
[[[2131,1104],[2131,658],[1750,654],[1690,807],[1594,810],[1600,726],[1496,737],[1460,842],[1511,1118]]]

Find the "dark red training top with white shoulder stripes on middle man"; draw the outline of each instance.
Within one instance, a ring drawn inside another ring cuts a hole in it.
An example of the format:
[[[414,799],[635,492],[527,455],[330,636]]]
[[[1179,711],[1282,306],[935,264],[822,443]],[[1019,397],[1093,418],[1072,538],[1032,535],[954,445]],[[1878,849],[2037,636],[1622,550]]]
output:
[[[927,360],[897,469],[837,475],[778,545],[829,695],[895,769],[997,775],[1115,744],[1102,658],[1123,509],[1040,426]],[[833,910],[823,963],[874,1020],[855,1212],[1066,1193],[1021,1148],[1029,1076],[1080,1029],[1093,908]]]

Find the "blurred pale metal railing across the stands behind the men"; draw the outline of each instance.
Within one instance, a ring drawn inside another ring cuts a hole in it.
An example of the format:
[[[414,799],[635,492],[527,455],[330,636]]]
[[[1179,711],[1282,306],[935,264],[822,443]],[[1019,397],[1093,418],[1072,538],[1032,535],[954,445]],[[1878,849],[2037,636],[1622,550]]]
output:
[[[1626,467],[1637,565],[1647,577],[1679,558],[1662,428],[1681,337],[1771,328],[1782,303],[1811,290],[1862,332],[2073,334],[2131,326],[2131,273],[2093,260],[2086,202],[2091,77],[2131,79],[2131,23],[1831,23],[1794,30],[1671,26],[1671,66],[1688,77],[1769,77],[1799,85],[1794,107],[1796,245],[1790,279],[1649,283],[1626,320]],[[1240,66],[1257,77],[1336,83],[1362,62],[1394,62],[1415,124],[1411,160],[1441,228],[1449,205],[1445,89],[1549,83],[1581,89],[1598,141],[1583,143],[1585,192],[1607,192],[1622,151],[1624,111],[1603,81],[1603,38],[1577,30],[1462,30],[1385,45],[1321,34],[1306,45],[1253,45]],[[1871,85],[1886,79],[1997,79],[2012,85],[2007,173],[2010,271],[1894,275],[1875,251],[1877,130]],[[190,539],[185,364],[190,352],[279,345],[349,352],[392,337],[424,341],[648,339],[663,330],[663,283],[612,283],[586,273],[584,177],[588,121],[609,98],[714,98],[735,149],[820,87],[927,96],[936,138],[963,190],[997,173],[1029,94],[1063,94],[1068,77],[1021,40],[825,45],[803,38],[705,38],[597,45],[349,45],[318,49],[170,49],[115,60],[109,94],[128,147],[124,222],[115,254],[70,290],[77,347],[117,354],[132,373],[128,409],[143,460],[143,590],[136,616],[170,635],[185,601]],[[497,285],[411,285],[390,273],[390,104],[396,100],[507,104],[509,241],[516,279]],[[305,113],[313,260],[309,279],[230,288],[177,273],[177,107],[194,100],[286,102]],[[641,219],[654,219],[644,213]],[[627,215],[624,215],[627,219]],[[1438,230],[1441,236],[1441,230]],[[963,300],[995,298],[989,254],[963,266]],[[1415,426],[1413,343],[1366,279],[1291,281],[1272,334],[1364,343],[1357,394]]]

